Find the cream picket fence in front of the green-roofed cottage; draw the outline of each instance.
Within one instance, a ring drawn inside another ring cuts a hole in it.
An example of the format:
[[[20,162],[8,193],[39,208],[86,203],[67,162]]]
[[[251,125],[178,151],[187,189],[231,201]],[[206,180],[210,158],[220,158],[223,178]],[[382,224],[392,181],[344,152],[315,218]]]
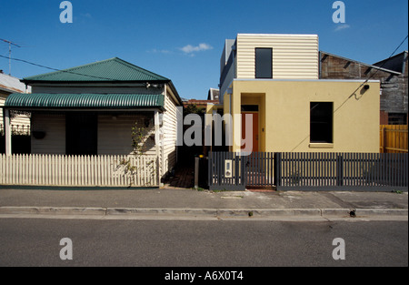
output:
[[[120,165],[131,158],[135,175]],[[0,185],[156,187],[155,156],[0,155]]]

